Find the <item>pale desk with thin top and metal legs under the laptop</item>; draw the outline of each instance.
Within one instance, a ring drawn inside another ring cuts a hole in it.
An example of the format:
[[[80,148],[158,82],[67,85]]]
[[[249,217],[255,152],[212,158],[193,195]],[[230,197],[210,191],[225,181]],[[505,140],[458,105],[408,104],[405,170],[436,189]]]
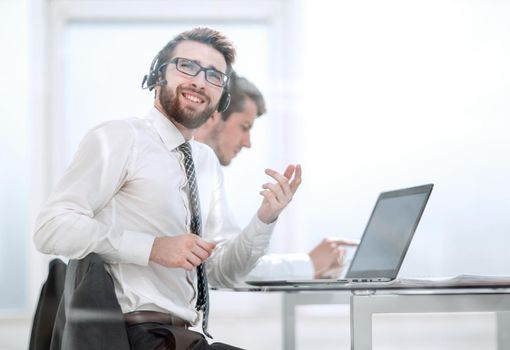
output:
[[[295,344],[295,307],[350,304],[351,349],[372,349],[372,316],[384,313],[495,312],[498,350],[510,349],[510,280],[508,285],[242,287],[236,291],[282,292],[283,349]]]

